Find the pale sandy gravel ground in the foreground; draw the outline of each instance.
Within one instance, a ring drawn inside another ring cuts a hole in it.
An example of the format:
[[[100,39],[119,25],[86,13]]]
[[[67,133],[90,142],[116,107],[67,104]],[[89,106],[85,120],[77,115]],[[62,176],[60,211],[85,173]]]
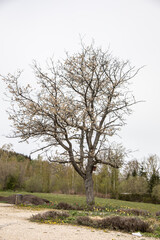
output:
[[[46,211],[46,210],[45,210]],[[40,212],[40,211],[38,211]],[[44,211],[43,211],[44,212]],[[94,230],[69,225],[47,225],[29,222],[37,211],[18,209],[0,203],[0,240],[152,240],[115,231]]]

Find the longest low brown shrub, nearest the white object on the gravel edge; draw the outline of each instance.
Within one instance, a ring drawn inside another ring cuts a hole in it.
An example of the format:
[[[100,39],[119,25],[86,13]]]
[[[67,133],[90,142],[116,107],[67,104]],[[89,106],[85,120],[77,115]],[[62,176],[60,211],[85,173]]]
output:
[[[89,217],[78,217],[77,223],[80,225],[91,226],[95,228],[110,228],[113,230],[141,231],[150,232],[147,222],[139,218],[111,216],[103,219],[91,219]]]

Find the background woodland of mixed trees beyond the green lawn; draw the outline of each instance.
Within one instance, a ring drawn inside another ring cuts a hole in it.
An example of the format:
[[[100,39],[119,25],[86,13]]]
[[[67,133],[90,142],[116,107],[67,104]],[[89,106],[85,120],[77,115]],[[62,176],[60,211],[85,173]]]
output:
[[[134,159],[121,169],[99,166],[93,174],[96,196],[160,203],[159,158]],[[18,154],[9,145],[0,148],[0,190],[85,194],[83,179],[69,164]]]

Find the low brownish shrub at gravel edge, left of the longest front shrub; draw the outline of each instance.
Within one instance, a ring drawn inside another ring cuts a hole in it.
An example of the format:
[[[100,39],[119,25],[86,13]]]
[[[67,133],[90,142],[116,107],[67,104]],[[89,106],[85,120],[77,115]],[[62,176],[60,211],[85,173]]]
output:
[[[45,213],[38,213],[33,215],[30,220],[31,221],[45,221],[45,220],[57,220],[57,219],[65,219],[69,217],[69,214],[66,212],[59,212],[59,211],[48,211]]]

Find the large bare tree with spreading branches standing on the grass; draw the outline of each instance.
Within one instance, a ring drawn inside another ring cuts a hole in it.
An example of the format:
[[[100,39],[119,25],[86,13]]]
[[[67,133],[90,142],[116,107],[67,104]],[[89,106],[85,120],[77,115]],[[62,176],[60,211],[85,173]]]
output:
[[[93,204],[96,164],[118,168],[123,161],[123,149],[111,148],[108,139],[136,103],[129,83],[137,71],[92,44],[47,66],[43,71],[33,64],[36,90],[20,85],[21,72],[3,77],[11,93],[13,135],[23,141],[39,139],[43,146],[38,150],[58,147],[60,157],[50,160],[73,165],[84,179],[87,203]]]

